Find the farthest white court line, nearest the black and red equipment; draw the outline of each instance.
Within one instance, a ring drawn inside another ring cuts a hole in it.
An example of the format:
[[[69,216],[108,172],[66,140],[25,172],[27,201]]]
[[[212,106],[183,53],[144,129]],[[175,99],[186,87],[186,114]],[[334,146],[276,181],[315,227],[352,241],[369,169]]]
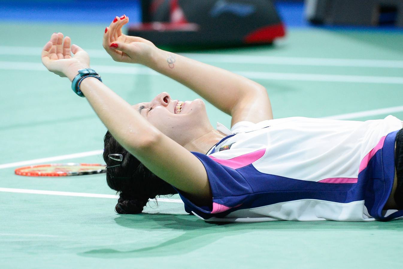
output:
[[[39,56],[42,47],[0,46],[0,55]],[[111,59],[103,49],[86,49],[91,58]],[[183,56],[203,62],[239,63],[239,64],[273,64],[295,66],[344,66],[368,68],[403,68],[401,60],[340,59],[313,57],[282,57],[264,55],[238,55],[214,53],[179,53]]]

